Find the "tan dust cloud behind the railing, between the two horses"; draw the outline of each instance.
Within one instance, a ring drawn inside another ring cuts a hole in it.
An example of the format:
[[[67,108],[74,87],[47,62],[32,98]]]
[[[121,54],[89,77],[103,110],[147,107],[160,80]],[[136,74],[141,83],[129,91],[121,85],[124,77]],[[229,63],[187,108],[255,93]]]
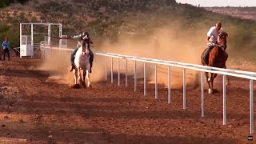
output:
[[[201,30],[201,31],[199,31]],[[208,29],[200,28],[193,32],[182,30],[182,24],[173,22],[161,28],[154,29],[154,33],[143,38],[130,38],[120,35],[118,42],[105,42],[100,50],[115,54],[125,54],[143,58],[201,64],[200,56],[206,48],[205,36]],[[117,71],[117,58],[114,58],[114,71]],[[110,64],[110,58],[108,58]],[[125,73],[125,60],[121,60],[121,72]],[[137,62],[138,78],[143,78],[143,63]],[[158,65],[158,83],[167,85],[167,66]],[[108,66],[110,70],[110,65]],[[154,64],[146,64],[147,76],[154,82]],[[171,66],[172,88],[182,87],[182,68]],[[128,74],[134,74],[134,62],[128,61]],[[186,84],[198,86],[198,72],[186,70]]]

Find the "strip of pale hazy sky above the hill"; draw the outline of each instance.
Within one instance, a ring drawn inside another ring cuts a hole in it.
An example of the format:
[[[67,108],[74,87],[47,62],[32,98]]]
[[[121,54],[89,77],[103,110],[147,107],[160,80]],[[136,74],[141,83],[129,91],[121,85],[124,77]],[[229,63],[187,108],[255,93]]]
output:
[[[176,0],[194,6],[256,6],[256,0]]]

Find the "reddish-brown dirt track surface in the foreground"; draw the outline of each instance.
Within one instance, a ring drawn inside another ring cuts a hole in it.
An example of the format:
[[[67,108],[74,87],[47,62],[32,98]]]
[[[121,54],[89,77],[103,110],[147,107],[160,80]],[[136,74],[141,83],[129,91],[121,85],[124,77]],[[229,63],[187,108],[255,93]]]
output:
[[[128,88],[114,81],[71,89],[47,81],[46,71],[29,69],[39,63],[0,61],[1,143],[246,143],[250,135],[248,80],[230,78],[222,126],[222,82],[216,84],[219,94],[205,92],[202,118],[199,88],[188,86],[184,111],[179,89],[171,91],[170,104],[164,86],[158,86],[156,101],[154,85],[143,96],[142,82],[134,93],[132,79]]]

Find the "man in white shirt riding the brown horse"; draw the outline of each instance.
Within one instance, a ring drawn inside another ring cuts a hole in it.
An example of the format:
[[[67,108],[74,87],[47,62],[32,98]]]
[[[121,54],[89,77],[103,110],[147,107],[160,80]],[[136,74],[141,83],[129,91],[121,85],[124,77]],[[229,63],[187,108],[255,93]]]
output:
[[[206,50],[206,54],[204,56],[204,61],[206,62],[206,66],[209,64],[209,53],[210,50],[218,44],[218,34],[222,31],[222,22],[217,22],[215,26],[211,27],[207,33],[206,42],[209,45],[208,49]]]

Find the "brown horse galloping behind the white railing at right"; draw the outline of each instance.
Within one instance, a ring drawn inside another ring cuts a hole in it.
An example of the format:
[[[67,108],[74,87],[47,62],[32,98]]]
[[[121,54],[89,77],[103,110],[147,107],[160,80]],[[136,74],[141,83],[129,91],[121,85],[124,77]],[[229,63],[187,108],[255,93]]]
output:
[[[226,32],[222,32],[221,34],[218,34],[218,43],[220,46],[214,46],[214,48],[209,53],[209,63],[208,66],[212,67],[218,67],[218,68],[225,68],[226,69],[226,60],[228,58],[228,54],[226,53],[226,39],[228,37],[228,34]],[[204,61],[204,55],[206,53],[205,49],[201,54],[201,62],[203,66],[206,66],[206,62]],[[217,77],[217,74],[210,73],[210,76],[208,72],[206,74],[206,82],[209,85],[209,94],[213,94],[214,92],[214,78]],[[226,81],[228,84],[229,79],[227,78]]]

